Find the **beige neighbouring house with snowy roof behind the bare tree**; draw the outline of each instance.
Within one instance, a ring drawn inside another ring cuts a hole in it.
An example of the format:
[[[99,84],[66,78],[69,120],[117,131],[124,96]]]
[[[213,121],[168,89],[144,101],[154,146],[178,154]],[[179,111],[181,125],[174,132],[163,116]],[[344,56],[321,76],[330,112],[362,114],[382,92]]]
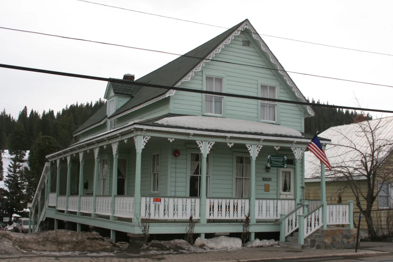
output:
[[[359,115],[360,117],[362,115]],[[377,124],[380,121],[380,128],[378,130],[378,139],[392,141],[393,140],[393,117],[385,117],[381,119],[370,120],[370,125]],[[360,122],[360,123],[359,123]],[[337,147],[334,145],[343,145],[351,141],[354,146],[358,149],[363,149],[364,152],[367,151],[367,141],[364,137],[359,137],[359,132],[361,131],[359,124],[364,124],[365,122],[355,122],[352,124],[333,126],[325,130],[318,137],[330,139],[332,141],[331,145],[326,146],[326,156],[328,157],[331,165],[334,166],[336,163],[345,163],[349,168],[353,168],[356,165],[356,161],[360,162],[359,153],[356,151],[351,151],[348,148]],[[389,152],[384,152],[380,154],[380,158],[386,158],[385,154],[390,154]],[[385,163],[391,162],[392,156],[386,158]],[[384,163],[384,164],[385,164]],[[384,165],[383,164],[383,165]],[[321,179],[320,179],[320,163],[319,160],[311,153],[305,152],[305,199],[321,199]],[[356,183],[361,192],[367,192],[367,180],[365,176],[354,176]],[[377,179],[378,181],[378,179]],[[379,191],[378,197],[373,204],[373,210],[377,209],[389,209],[393,208],[393,187],[389,183],[382,183],[378,181],[377,187],[382,189]],[[377,188],[376,188],[377,189]],[[332,171],[326,169],[326,201],[328,204],[334,203],[347,203],[346,201],[352,200],[353,212],[357,216],[359,213],[359,208],[356,205],[355,195],[353,194],[351,188],[348,186],[348,182],[345,177],[340,177],[339,175],[334,175]],[[315,204],[315,201],[311,202]],[[366,201],[364,198],[360,197],[360,203],[362,207],[366,207]]]

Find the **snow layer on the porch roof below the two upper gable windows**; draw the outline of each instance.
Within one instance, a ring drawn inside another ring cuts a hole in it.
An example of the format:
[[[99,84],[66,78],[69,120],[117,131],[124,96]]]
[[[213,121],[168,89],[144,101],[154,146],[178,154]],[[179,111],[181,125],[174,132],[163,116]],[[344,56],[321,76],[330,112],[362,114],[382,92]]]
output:
[[[302,137],[302,134],[299,131],[278,124],[212,116],[174,116],[163,118],[156,123],[198,129]]]

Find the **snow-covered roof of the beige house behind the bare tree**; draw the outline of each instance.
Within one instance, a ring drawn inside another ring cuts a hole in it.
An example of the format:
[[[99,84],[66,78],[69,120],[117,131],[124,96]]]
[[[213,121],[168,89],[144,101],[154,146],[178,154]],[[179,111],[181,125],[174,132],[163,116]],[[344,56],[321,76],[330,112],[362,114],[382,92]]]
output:
[[[354,167],[356,162],[361,160],[357,151],[350,150],[343,146],[355,146],[363,153],[370,153],[370,147],[368,146],[365,135],[361,130],[361,126],[367,124],[367,121],[363,121],[359,123],[333,126],[318,135],[318,137],[323,137],[332,141],[331,145],[327,145],[325,150],[326,156],[332,166],[334,166],[335,163],[346,163],[346,166]],[[374,133],[379,143],[393,140],[393,116],[373,119],[369,121],[369,124],[371,128],[375,128],[375,126],[380,127]],[[391,148],[386,148],[386,151],[379,155],[379,159],[384,159],[390,150]],[[305,152],[304,157],[306,179],[320,177],[321,168],[319,160],[309,151]],[[329,172],[327,170],[326,174],[328,175],[328,173]]]

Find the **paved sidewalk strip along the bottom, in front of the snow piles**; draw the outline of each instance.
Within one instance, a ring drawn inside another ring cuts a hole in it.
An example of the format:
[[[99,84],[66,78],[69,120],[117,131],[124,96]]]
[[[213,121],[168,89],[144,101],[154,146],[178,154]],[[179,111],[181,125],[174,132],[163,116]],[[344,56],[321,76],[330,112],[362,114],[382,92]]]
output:
[[[393,243],[390,243],[393,244]],[[151,261],[172,261],[172,262],[202,262],[202,261],[219,261],[219,262],[246,262],[254,260],[281,260],[281,259],[299,259],[313,257],[328,256],[367,256],[386,254],[387,252],[375,250],[358,250],[354,249],[306,249],[298,250],[286,247],[254,247],[242,248],[227,251],[211,251],[205,253],[187,253],[187,254],[157,254],[157,255],[141,255],[132,256],[127,254],[119,254],[113,256],[85,256],[85,257],[69,257],[69,256],[29,256],[15,258],[0,258],[0,261],[31,261],[31,262],[52,262],[52,261],[97,261],[97,262],[151,262]]]

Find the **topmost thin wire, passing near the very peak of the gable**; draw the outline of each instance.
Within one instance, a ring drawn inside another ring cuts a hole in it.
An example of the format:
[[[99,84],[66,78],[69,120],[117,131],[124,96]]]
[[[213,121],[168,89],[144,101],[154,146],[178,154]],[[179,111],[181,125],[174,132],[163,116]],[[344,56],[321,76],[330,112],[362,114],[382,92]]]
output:
[[[217,27],[217,28],[229,29],[229,28],[227,28],[227,27],[215,26],[215,25],[211,25],[211,24],[200,23],[200,22],[195,22],[195,21],[190,21],[190,20],[185,20],[185,19],[180,19],[180,18],[167,17],[167,16],[163,16],[163,15],[157,15],[157,14],[152,14],[152,13],[147,13],[147,12],[142,12],[142,11],[137,11],[137,10],[132,10],[132,9],[120,8],[120,7],[115,7],[115,6],[109,6],[109,5],[104,5],[104,4],[94,3],[94,2],[89,2],[89,1],[85,1],[85,0],[77,0],[77,1],[85,2],[85,3],[89,3],[89,4],[94,4],[94,5],[99,5],[99,6],[104,6],[104,7],[110,7],[110,8],[115,8],[115,9],[121,9],[121,10],[125,10],[125,11],[131,11],[131,12],[141,13],[141,14],[145,14],[145,15],[151,15],[151,16],[156,16],[156,17],[168,18],[168,19],[173,19],[173,20],[178,20],[178,21],[183,21],[183,22],[188,22],[188,23],[193,23],[193,24],[199,24],[199,25],[204,25],[204,26],[210,26],[210,27]],[[377,55],[393,56],[393,55],[391,55],[391,54],[386,54],[386,53],[379,53],[379,52],[366,51],[366,50],[360,50],[360,49],[354,49],[354,48],[347,48],[347,47],[339,47],[339,46],[333,46],[333,45],[327,45],[327,44],[320,44],[320,43],[309,42],[309,41],[303,41],[303,40],[297,40],[297,39],[286,38],[286,37],[278,37],[278,36],[272,36],[272,35],[258,34],[258,33],[254,33],[254,32],[251,32],[251,33],[252,33],[252,34],[255,34],[255,35],[259,35],[259,36],[274,37],[274,38],[279,38],[279,39],[284,39],[284,40],[290,40],[290,41],[295,41],[295,42],[300,42],[300,43],[306,43],[306,44],[312,44],[312,45],[319,45],[319,46],[325,46],[325,47],[333,47],[333,48],[339,48],[339,49],[345,49],[345,50],[351,50],[351,51],[357,51],[357,52],[363,52],[363,53],[370,53],[370,54],[377,54]]]

